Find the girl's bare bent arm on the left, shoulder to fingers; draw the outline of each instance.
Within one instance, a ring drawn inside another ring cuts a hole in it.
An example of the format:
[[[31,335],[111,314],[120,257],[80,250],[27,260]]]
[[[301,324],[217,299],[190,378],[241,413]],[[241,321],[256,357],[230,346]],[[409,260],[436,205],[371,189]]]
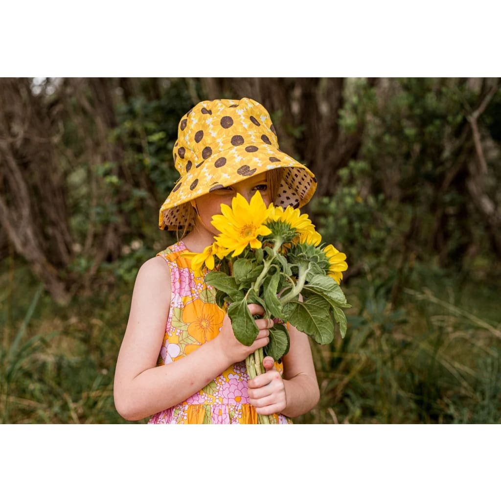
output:
[[[256,321],[261,329],[259,336],[247,347],[235,339],[226,316],[214,340],[174,363],[156,367],[170,297],[168,266],[162,258],[152,258],[144,263],[136,278],[115,371],[115,406],[125,419],[142,419],[182,402],[232,363],[268,344],[268,320]],[[249,310],[253,314],[263,313],[257,305],[249,305]]]

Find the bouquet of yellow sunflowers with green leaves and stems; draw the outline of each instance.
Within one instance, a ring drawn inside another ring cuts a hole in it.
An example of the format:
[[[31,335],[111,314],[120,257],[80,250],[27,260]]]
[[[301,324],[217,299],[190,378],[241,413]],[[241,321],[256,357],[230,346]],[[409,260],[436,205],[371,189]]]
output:
[[[351,305],[339,284],[348,268],[346,255],[321,244],[308,215],[292,207],[267,207],[259,191],[250,202],[237,194],[231,207],[221,204],[221,212],[212,216],[220,233],[193,257],[193,268],[209,270],[205,282],[216,289],[216,303],[227,311],[242,344],[252,345],[259,333],[248,304],[259,304],[265,317],[278,319],[269,344],[246,358],[249,377],[265,372],[265,356],[277,361],[287,354],[287,324],[319,344],[333,340],[335,324],[344,337],[343,308]],[[268,416],[259,417],[269,422]]]

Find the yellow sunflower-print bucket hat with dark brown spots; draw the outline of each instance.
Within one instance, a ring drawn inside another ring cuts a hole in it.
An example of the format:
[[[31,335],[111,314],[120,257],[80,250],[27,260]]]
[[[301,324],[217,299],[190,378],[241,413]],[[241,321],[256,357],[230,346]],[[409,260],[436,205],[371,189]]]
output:
[[[279,149],[268,111],[249,98],[195,105],[179,122],[173,155],[181,177],[160,207],[160,229],[186,224],[186,202],[268,170],[285,169],[275,200],[284,208],[302,207],[317,188],[314,174]]]

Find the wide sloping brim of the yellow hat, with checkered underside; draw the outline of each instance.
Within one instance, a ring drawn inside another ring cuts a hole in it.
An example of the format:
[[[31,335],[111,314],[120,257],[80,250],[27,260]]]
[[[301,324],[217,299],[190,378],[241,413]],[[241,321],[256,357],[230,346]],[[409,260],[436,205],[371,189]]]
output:
[[[256,149],[255,151],[252,151]],[[273,169],[286,169],[275,203],[302,207],[317,187],[314,174],[303,164],[264,143],[245,143],[214,153],[181,177],[160,207],[159,228],[177,229],[185,225],[179,206],[221,187]]]

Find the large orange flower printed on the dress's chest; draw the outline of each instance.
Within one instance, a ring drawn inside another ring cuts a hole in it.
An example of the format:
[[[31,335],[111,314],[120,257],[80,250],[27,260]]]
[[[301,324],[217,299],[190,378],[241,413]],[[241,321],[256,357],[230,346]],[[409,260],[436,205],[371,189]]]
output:
[[[199,343],[214,339],[219,334],[224,318],[222,310],[213,303],[195,299],[187,303],[183,310],[183,322],[188,325],[188,334]]]

